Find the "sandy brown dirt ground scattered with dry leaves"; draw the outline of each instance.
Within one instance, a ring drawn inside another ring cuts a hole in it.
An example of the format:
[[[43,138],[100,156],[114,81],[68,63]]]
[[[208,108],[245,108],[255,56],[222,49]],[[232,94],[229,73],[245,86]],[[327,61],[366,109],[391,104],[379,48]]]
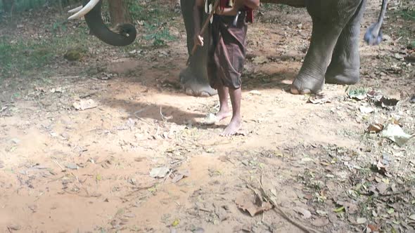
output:
[[[380,4],[369,4],[362,33]],[[83,61],[50,65],[47,82],[5,81],[0,232],[301,232],[290,220],[318,232],[414,232],[415,140],[383,137],[388,126],[415,133],[415,64],[404,60],[415,21],[398,14],[411,6],[392,1],[383,44],[361,44],[362,81],[326,85],[320,98],[287,91],[307,51],[307,12],[262,9],[248,29],[243,133],[230,138],[219,137],[229,119],[201,124],[217,96],[180,88],[179,13],[167,48],[96,40]],[[385,129],[366,132],[373,124]]]

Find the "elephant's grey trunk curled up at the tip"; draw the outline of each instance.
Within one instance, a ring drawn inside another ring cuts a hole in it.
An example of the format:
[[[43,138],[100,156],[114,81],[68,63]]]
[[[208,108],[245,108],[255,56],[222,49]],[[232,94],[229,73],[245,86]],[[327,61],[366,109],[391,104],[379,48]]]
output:
[[[84,0],[82,4],[85,6],[88,0]],[[94,6],[94,8],[85,15],[85,21],[92,34],[101,41],[111,46],[127,46],[132,44],[136,39],[136,28],[131,24],[122,24],[117,26],[119,33],[113,32],[104,24],[101,18],[101,5],[102,0]]]

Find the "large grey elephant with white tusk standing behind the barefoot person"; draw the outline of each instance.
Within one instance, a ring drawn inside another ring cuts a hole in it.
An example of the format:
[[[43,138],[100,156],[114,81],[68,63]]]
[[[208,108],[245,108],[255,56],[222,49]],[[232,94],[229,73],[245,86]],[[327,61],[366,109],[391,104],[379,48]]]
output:
[[[304,62],[290,86],[293,94],[317,94],[324,84],[352,85],[359,82],[359,34],[367,0],[262,0],[262,3],[286,4],[307,8],[312,18],[312,36]],[[181,0],[181,13],[187,35],[190,55],[196,34],[193,25],[195,0]],[[84,16],[92,34],[113,46],[126,46],[134,41],[136,29],[125,24],[112,32],[101,20],[101,0],[84,0],[84,7],[75,8],[72,18]],[[388,0],[382,1],[378,20],[364,34],[364,41],[377,45],[382,41],[381,26]],[[201,19],[202,21],[203,19]],[[208,36],[204,35],[205,39]],[[208,44],[208,43],[207,43]],[[206,47],[206,46],[205,46]],[[190,65],[179,74],[180,83],[188,95],[211,96],[217,91],[210,88],[207,79],[207,48],[201,47],[191,56]]]

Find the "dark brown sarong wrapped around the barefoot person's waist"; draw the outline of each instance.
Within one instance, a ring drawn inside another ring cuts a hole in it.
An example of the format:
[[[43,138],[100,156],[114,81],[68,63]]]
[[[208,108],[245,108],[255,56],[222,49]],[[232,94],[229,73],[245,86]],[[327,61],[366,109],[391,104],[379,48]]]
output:
[[[210,25],[208,79],[212,88],[220,86],[238,89],[245,65],[245,37],[248,25],[245,11],[233,25],[235,16],[213,15]]]

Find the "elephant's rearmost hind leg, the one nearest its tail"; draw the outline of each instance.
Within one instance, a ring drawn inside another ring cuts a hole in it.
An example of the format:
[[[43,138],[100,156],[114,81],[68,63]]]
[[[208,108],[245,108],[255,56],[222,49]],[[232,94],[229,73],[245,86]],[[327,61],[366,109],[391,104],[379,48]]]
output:
[[[327,68],[326,84],[350,85],[359,81],[359,34],[365,6],[366,0],[363,0],[340,34]]]

